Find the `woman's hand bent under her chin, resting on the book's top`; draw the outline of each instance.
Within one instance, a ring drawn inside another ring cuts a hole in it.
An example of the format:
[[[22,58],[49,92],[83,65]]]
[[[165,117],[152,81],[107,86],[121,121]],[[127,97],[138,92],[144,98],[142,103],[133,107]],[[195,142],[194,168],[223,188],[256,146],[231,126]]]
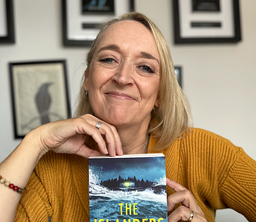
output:
[[[96,123],[102,122],[99,129]],[[84,143],[92,136],[102,153],[110,156],[123,155],[120,136],[114,126],[95,116],[86,114],[72,119],[60,120],[37,127],[29,135],[39,139],[42,155],[52,150],[56,153],[74,153],[79,156],[99,156]]]

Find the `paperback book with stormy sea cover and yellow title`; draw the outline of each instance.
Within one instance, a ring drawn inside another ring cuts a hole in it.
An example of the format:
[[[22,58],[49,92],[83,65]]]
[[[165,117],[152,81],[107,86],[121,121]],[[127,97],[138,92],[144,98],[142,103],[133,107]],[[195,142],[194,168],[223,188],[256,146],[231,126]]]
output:
[[[89,157],[90,222],[167,222],[162,153]]]

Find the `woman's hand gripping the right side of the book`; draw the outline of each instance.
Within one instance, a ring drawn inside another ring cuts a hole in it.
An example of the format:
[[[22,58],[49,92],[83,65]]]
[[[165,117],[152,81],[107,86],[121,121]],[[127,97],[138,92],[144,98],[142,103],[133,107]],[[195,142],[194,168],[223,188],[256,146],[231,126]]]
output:
[[[193,222],[207,222],[203,211],[197,204],[192,193],[185,187],[181,186],[173,180],[167,179],[167,186],[172,188],[176,193],[171,194],[168,197],[167,210],[173,210],[175,204],[182,204],[182,206],[177,207],[168,217],[168,222],[183,221],[193,221]],[[194,211],[194,217],[190,218],[190,214]],[[189,220],[190,219],[190,220]]]

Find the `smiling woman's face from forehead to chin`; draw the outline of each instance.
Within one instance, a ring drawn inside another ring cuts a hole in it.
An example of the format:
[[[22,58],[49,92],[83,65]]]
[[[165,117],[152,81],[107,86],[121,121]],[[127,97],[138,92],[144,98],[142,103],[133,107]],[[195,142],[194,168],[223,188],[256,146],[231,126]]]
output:
[[[86,70],[95,116],[116,127],[147,127],[159,84],[160,56],[150,30],[135,21],[109,26]]]

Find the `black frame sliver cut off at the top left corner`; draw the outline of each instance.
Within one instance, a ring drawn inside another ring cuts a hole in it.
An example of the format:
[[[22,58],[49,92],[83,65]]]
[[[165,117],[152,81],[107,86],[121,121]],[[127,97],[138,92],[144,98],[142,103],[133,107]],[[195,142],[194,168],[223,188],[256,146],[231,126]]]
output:
[[[0,43],[14,43],[14,16],[12,0],[0,0]]]

